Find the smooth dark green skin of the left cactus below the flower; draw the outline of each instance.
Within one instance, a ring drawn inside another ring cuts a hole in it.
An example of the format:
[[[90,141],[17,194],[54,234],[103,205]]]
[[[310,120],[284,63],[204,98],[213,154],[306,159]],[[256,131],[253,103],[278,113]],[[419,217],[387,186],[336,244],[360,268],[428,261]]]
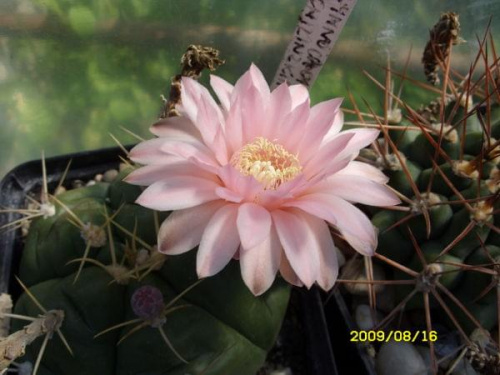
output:
[[[103,224],[103,212],[150,245],[156,244],[154,214],[135,205],[140,188],[121,181],[71,190],[60,199],[83,222]],[[254,375],[262,366],[281,327],[290,287],[277,279],[261,297],[254,297],[244,285],[239,265],[231,262],[221,273],[206,279],[184,295],[178,305],[189,307],[172,312],[163,328],[173,347],[189,363],[183,363],[168,348],[157,328],[147,326],[118,341],[133,326],[99,332],[137,319],[130,306],[134,291],[142,285],[159,288],[166,303],[197,281],[196,252],[169,257],[161,269],[141,281],[114,282],[109,272],[87,263],[76,283],[78,263],[85,242],[80,230],[68,222],[69,214],[58,205],[56,215],[32,223],[23,252],[20,278],[46,309],[62,309],[62,333],[74,351],[72,357],[57,336],[49,341],[39,375]],[[160,215],[160,220],[166,217]],[[136,225],[139,223],[139,225]],[[161,221],[160,221],[161,222]],[[112,226],[119,260],[130,236]],[[139,245],[137,245],[139,246]],[[92,248],[89,258],[110,264],[109,244]],[[127,263],[127,262],[125,262]],[[23,294],[16,314],[37,316],[40,311]],[[13,330],[23,322],[15,321]],[[42,340],[27,350],[25,359],[34,361]]]

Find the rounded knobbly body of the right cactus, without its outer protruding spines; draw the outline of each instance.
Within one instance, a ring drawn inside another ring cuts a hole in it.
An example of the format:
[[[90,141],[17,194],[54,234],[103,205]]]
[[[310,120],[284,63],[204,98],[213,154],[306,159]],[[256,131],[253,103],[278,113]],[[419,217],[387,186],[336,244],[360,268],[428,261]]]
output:
[[[438,133],[430,131],[425,135],[423,130],[403,132],[394,129],[389,132],[421,198],[415,197],[412,184],[402,170],[395,171],[393,165],[380,163],[383,158],[375,155],[372,160],[390,176],[389,184],[413,203],[406,212],[381,209],[375,213],[372,222],[379,229],[377,252],[422,274],[424,267],[410,241],[411,230],[426,263],[435,266],[434,272],[441,270],[436,280],[469,308],[481,325],[491,329],[498,324],[497,287],[495,284],[491,290],[487,288],[500,277],[500,268],[492,264],[492,259],[500,261],[500,158],[498,148],[495,151],[488,147],[496,142],[493,137],[498,139],[500,136],[500,105],[492,103],[486,116],[469,104],[468,112],[455,101],[445,108],[445,118],[451,126],[445,126],[442,132],[440,149],[446,155],[436,153],[435,146],[428,139],[439,143]],[[427,116],[429,113],[430,109]],[[440,123],[437,118],[429,118],[431,124],[433,121]],[[490,124],[489,135],[483,131],[484,124]],[[407,125],[416,126],[406,119],[399,124],[403,128]],[[437,125],[431,127],[439,129]],[[381,144],[384,145],[385,141]],[[385,159],[395,159],[394,156],[394,150],[391,150]],[[462,199],[467,200],[467,205]],[[429,231],[424,211],[428,214]],[[409,218],[410,214],[412,218]],[[496,270],[498,274],[492,276],[467,267],[479,265]],[[387,266],[387,269],[394,273],[395,279],[413,278],[400,270],[394,271],[393,267]],[[429,292],[426,287],[419,286],[418,280],[416,285],[420,292]],[[402,301],[414,289],[413,285],[398,285],[396,302]],[[433,294],[429,292],[429,296],[431,308],[438,308]],[[467,332],[475,328],[471,319],[450,298],[443,296],[443,300]],[[423,308],[421,293],[405,304],[408,310]],[[450,322],[442,310],[443,321]],[[455,328],[451,323],[450,326]]]

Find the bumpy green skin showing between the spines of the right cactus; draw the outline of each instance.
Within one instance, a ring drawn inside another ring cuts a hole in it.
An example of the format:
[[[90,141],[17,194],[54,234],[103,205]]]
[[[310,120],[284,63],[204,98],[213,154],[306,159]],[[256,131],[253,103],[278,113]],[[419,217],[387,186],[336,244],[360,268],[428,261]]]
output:
[[[498,189],[498,180],[493,184],[491,174],[494,168],[499,167],[498,158],[490,158],[486,160],[483,155],[483,162],[479,164],[476,170],[479,171],[480,182],[478,186],[478,175],[467,177],[460,165],[456,164],[456,160],[460,158],[460,148],[463,143],[462,159],[465,161],[477,160],[481,158],[484,151],[484,143],[486,136],[481,128],[481,122],[486,123],[486,117],[480,111],[474,112],[472,115],[467,115],[465,109],[455,104],[452,101],[445,109],[447,120],[456,126],[456,138],[443,138],[441,147],[446,152],[449,160],[454,164],[450,164],[446,158],[440,156],[436,163],[439,165],[442,173],[447,177],[454,186],[450,188],[445,178],[435,171],[435,166],[432,159],[435,154],[435,148],[431,145],[427,137],[422,134],[422,131],[408,130],[404,133],[397,130],[391,130],[389,136],[397,145],[399,152],[404,156],[406,165],[408,166],[410,175],[416,183],[420,193],[425,194],[428,187],[431,186],[430,192],[436,194],[442,202],[439,205],[431,206],[428,209],[431,231],[427,234],[426,223],[423,215],[419,214],[410,220],[404,221],[403,224],[394,226],[402,221],[408,212],[391,211],[387,209],[374,210],[372,223],[379,229],[379,246],[377,252],[393,261],[396,261],[406,267],[409,267],[417,272],[421,272],[422,262],[415,251],[415,246],[410,241],[408,228],[415,238],[416,243],[422,250],[422,253],[427,263],[432,263],[436,257],[453,241],[461,235],[464,229],[470,225],[473,219],[471,212],[467,210],[462,203],[447,204],[447,202],[457,202],[461,198],[456,194],[458,191],[465,199],[474,200],[479,197],[493,197],[495,188]],[[455,108],[457,107],[457,108]],[[469,111],[473,108],[470,107]],[[449,118],[449,114],[455,111],[453,119]],[[463,124],[466,119],[464,132]],[[482,117],[482,118],[481,118]],[[489,116],[491,124],[491,137],[498,139],[500,137],[500,105],[491,104]],[[407,126],[414,124],[403,119],[399,126]],[[465,135],[464,141],[461,139]],[[434,141],[438,142],[439,137],[432,135]],[[492,140],[495,142],[495,140]],[[377,165],[380,165],[376,163]],[[414,197],[414,192],[411,188],[411,183],[401,170],[384,170],[389,176],[389,185],[399,190],[408,198],[418,203]],[[489,182],[488,182],[489,181]],[[496,186],[495,186],[496,184]],[[497,190],[498,191],[498,190]],[[498,193],[497,193],[498,194]],[[474,229],[463,236],[455,246],[453,246],[446,255],[438,259],[440,267],[444,273],[440,276],[439,282],[446,287],[460,302],[466,306],[481,325],[486,329],[492,329],[497,322],[497,294],[496,287],[488,293],[484,293],[485,289],[490,285],[495,276],[480,273],[477,271],[465,270],[465,267],[452,266],[449,263],[464,264],[464,265],[485,265],[492,268],[491,258],[497,258],[500,261],[500,234],[492,230],[487,224],[500,226],[500,199],[494,201],[494,215],[489,214],[485,222],[477,222]],[[484,202],[483,202],[484,203]],[[472,205],[476,202],[471,203]],[[415,207],[415,212],[418,213],[418,207]],[[392,229],[387,230],[394,226]],[[486,252],[490,254],[489,258]],[[448,263],[448,264],[446,264]],[[387,267],[388,272],[394,275],[396,280],[411,279],[406,273],[395,270],[393,267]],[[500,272],[500,269],[498,270]],[[409,293],[414,290],[414,286],[399,285],[396,288],[397,301],[403,300]],[[482,293],[484,295],[482,295]],[[481,297],[481,298],[478,298]],[[465,332],[470,333],[475,328],[475,325],[464,314],[460,308],[456,306],[451,299],[443,296],[445,303],[450,307],[451,311],[457,317],[460,325]],[[452,329],[455,329],[450,322],[450,318],[442,309],[439,309],[437,300],[430,294],[430,307],[433,310],[433,316],[441,314],[442,322],[447,322]],[[417,293],[405,305],[405,310],[417,310],[424,308],[424,301],[421,293]],[[438,313],[438,311],[440,311]],[[423,315],[422,311],[422,317]]]

